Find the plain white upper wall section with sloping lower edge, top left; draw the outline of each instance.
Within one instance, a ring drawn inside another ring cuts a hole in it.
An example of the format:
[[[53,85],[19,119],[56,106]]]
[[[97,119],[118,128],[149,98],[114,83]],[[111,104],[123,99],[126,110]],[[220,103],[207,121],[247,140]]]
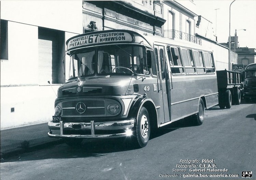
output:
[[[1,19],[67,32],[83,32],[82,1],[1,1]]]

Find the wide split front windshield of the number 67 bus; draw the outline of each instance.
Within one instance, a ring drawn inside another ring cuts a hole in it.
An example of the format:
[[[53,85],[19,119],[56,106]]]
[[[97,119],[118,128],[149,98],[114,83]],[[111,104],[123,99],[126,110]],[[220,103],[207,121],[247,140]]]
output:
[[[108,45],[75,51],[69,78],[107,74],[149,74],[146,49],[136,45]]]

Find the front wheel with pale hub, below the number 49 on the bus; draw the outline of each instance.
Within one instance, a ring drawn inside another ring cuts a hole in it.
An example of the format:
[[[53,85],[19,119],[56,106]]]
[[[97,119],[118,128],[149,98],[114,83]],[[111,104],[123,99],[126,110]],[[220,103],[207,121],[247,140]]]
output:
[[[147,145],[150,137],[150,119],[145,107],[142,107],[136,125],[136,141],[143,148]]]

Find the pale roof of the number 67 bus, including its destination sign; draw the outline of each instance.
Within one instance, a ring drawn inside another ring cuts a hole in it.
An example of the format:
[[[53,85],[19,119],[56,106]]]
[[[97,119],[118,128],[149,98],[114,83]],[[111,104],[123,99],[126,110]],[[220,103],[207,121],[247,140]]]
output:
[[[142,35],[138,32],[120,29],[84,33],[71,37],[66,42],[68,52],[85,47],[93,47],[105,44],[138,44],[149,48],[154,48],[154,43],[164,43],[174,46],[212,51],[211,49],[203,48],[202,46],[189,41],[178,39],[173,40],[165,37],[146,34]]]

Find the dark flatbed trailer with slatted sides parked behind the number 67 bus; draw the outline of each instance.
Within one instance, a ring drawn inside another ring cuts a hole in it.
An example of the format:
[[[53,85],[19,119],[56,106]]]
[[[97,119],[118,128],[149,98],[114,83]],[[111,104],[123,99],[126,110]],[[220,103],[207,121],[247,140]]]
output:
[[[241,103],[241,73],[235,71],[216,71],[218,84],[218,101],[221,109]]]

